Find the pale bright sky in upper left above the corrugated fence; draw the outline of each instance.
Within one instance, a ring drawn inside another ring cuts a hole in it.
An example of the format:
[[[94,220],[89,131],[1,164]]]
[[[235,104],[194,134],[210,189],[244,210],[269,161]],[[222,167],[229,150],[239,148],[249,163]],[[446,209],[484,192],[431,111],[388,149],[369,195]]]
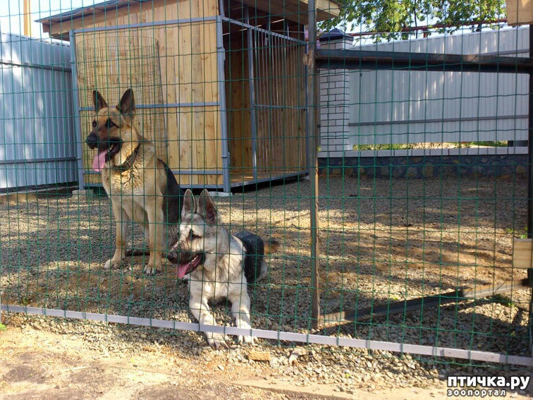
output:
[[[48,38],[42,33],[42,26],[35,20],[54,14],[71,11],[81,6],[92,6],[104,0],[31,0],[32,37]],[[0,0],[0,32],[23,34],[23,0]]]

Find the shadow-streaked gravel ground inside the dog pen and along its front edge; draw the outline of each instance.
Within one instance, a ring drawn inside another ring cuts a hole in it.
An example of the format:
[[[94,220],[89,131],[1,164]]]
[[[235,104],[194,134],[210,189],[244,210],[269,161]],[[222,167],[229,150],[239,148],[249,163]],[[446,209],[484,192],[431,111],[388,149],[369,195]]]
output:
[[[322,313],[526,277],[525,270],[511,268],[512,239],[521,233],[526,221],[526,188],[521,182],[484,178],[321,178],[320,190]],[[216,204],[223,223],[230,225],[232,231],[245,227],[263,238],[275,238],[282,245],[267,260],[268,278],[249,288],[252,326],[310,332],[309,182],[292,181],[217,198]],[[122,269],[102,269],[114,243],[114,222],[106,196],[0,205],[0,229],[4,303],[185,322],[192,318],[187,310],[187,286],[176,279],[175,269],[168,262],[163,262],[163,271],[155,277],[142,274],[142,257],[126,260]],[[136,228],[130,242],[142,246]],[[320,332],[525,356],[528,308],[529,291],[515,290],[505,296],[374,317],[357,325],[329,327]],[[220,324],[231,324],[228,315],[226,305],[215,308]],[[68,325],[37,320],[60,331]],[[90,338],[120,336],[110,334],[107,325],[72,326],[80,329],[74,334],[87,335],[87,345],[102,346],[107,351],[113,351],[111,345],[101,345]],[[94,332],[89,334],[87,329]],[[139,329],[138,334],[147,334],[141,333],[145,331]],[[128,332],[128,337],[137,334],[136,329],[117,332]],[[157,330],[149,334],[159,342]],[[161,335],[161,340],[169,337]],[[115,346],[126,346],[128,342],[120,340],[121,344]],[[180,334],[176,341],[177,347],[192,353],[204,351],[204,345],[202,337],[193,332]],[[247,358],[238,358],[240,349],[243,348],[235,346],[228,357],[246,362]],[[325,355],[331,349],[310,349],[305,357],[324,357],[324,365],[331,368],[362,365],[367,375],[376,372],[384,376],[384,382],[403,382],[394,375],[396,372],[391,372],[388,380],[386,370],[374,371],[375,363],[379,363],[376,360],[389,358],[389,354],[339,350],[335,357],[329,357]],[[271,363],[278,365],[280,373],[300,382],[298,374],[303,372],[287,364],[290,349],[271,351],[276,353]],[[410,358],[398,362],[405,367],[405,379],[416,379],[418,364]],[[341,372],[336,370],[333,374],[334,382],[343,383],[345,375]],[[436,374],[431,369],[420,373]],[[321,378],[321,372],[316,370],[302,376],[331,380]],[[357,380],[364,376],[357,374]]]

